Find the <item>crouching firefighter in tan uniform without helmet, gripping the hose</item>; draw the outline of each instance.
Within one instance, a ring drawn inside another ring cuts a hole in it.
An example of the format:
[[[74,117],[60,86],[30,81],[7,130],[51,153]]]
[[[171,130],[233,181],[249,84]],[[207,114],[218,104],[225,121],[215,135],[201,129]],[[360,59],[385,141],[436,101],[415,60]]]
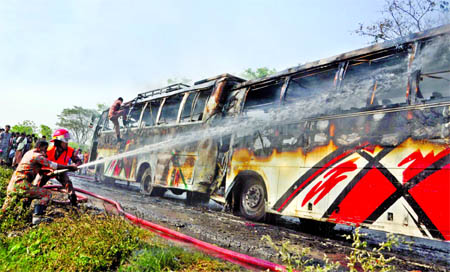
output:
[[[36,143],[36,148],[25,153],[9,181],[2,214],[9,209],[15,198],[40,199],[39,204],[34,206],[33,213],[33,224],[39,223],[41,220],[40,216],[44,214],[45,208],[50,201],[51,193],[45,188],[32,185],[36,175],[38,173],[44,175],[43,168],[53,170],[68,169],[70,171],[78,169],[75,165],[66,166],[49,161],[45,157],[47,148],[48,143],[46,141],[39,141]]]

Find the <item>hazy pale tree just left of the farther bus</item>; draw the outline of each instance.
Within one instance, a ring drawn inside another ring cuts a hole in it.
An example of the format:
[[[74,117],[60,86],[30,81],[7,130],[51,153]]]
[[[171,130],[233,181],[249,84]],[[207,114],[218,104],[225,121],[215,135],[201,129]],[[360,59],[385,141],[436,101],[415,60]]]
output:
[[[85,144],[92,131],[89,127],[92,116],[96,115],[98,115],[96,110],[74,106],[73,108],[63,109],[61,114],[58,115],[59,121],[56,125],[68,129],[77,143]]]

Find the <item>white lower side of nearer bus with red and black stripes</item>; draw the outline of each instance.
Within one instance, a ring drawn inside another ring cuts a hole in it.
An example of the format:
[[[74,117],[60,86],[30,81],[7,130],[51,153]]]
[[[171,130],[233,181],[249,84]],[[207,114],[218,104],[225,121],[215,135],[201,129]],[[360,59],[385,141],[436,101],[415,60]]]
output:
[[[448,240],[450,148],[448,137],[433,134],[442,131],[447,119],[437,116],[430,127],[418,125],[421,121],[410,116],[400,111],[311,124],[310,148],[297,154],[304,158],[303,171],[302,162],[296,162],[297,171],[294,165],[287,167],[295,162],[289,152],[275,152],[283,161],[275,164],[273,154],[269,160],[242,149],[238,153],[253,168],[268,161],[280,167],[273,211]],[[414,132],[417,128],[428,128],[431,134],[411,137],[419,135]],[[247,142],[254,146],[251,139],[247,137]],[[235,156],[234,160],[243,159]]]

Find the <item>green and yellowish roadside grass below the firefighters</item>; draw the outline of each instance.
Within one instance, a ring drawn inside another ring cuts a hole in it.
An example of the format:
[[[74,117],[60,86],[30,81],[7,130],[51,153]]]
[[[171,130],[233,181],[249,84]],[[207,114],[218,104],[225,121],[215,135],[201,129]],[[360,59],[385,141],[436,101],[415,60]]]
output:
[[[11,174],[11,170],[0,168],[0,205]],[[171,246],[120,217],[85,207],[66,209],[63,217],[30,227],[30,208],[21,201],[16,204],[0,219],[0,271],[240,270]]]

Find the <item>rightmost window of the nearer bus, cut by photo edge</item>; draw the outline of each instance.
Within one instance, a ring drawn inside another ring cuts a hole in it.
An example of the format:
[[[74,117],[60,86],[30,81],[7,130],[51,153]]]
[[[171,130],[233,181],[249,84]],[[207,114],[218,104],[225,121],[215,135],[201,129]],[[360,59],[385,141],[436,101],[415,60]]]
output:
[[[422,101],[434,102],[450,97],[450,38],[440,38],[421,45],[416,63],[420,65],[420,94]]]

